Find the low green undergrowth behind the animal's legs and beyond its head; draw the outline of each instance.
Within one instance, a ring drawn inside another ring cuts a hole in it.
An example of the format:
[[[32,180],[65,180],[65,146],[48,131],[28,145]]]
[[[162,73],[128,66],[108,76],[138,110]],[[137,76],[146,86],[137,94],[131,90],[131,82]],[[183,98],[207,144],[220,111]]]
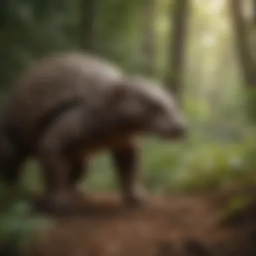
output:
[[[168,143],[146,139],[142,148],[143,183],[154,193],[198,191],[255,182],[255,137],[240,143],[198,140]],[[26,187],[38,190],[40,176],[30,168],[24,177]],[[108,154],[98,156],[81,186],[93,191],[117,190],[115,166]],[[34,178],[32,178],[34,177]]]

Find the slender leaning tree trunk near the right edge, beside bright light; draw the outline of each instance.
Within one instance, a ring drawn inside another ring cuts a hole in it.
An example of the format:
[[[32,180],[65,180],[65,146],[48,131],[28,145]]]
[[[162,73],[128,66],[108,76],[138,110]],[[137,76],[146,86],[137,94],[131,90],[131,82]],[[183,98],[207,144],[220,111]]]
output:
[[[249,39],[242,13],[242,1],[230,0],[230,9],[233,21],[234,36],[236,38],[235,42],[238,59],[241,63],[245,83],[249,88],[255,87],[256,69],[253,57],[250,53]]]

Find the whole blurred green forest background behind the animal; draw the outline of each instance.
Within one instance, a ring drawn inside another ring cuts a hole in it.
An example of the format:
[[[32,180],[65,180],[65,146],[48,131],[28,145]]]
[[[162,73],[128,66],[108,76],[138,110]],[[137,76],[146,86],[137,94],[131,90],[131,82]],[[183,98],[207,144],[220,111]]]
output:
[[[74,49],[159,79],[177,94],[189,120],[188,138],[143,139],[143,183],[152,193],[255,182],[255,1],[1,0],[1,104],[31,61]],[[85,183],[92,191],[118,189],[107,153],[96,156]],[[31,235],[34,222],[44,223],[44,217],[28,218],[30,205],[20,190],[11,197],[2,187],[0,249],[20,241],[18,234]],[[42,189],[34,160],[27,163],[21,189]]]

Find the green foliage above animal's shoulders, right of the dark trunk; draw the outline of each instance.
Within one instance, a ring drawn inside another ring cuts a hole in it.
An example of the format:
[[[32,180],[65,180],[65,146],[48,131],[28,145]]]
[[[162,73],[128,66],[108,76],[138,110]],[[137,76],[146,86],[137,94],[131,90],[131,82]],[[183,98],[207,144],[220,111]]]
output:
[[[141,66],[143,1],[101,1],[95,20],[96,51],[130,71]],[[102,43],[104,42],[104,43]]]

